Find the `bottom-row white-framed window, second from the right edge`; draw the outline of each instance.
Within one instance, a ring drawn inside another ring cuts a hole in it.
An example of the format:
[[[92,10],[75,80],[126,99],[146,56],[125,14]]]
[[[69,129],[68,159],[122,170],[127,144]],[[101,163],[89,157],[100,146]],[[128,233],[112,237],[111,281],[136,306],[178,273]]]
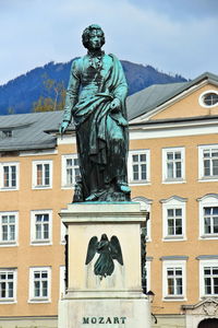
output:
[[[185,298],[185,260],[164,260],[164,298]]]

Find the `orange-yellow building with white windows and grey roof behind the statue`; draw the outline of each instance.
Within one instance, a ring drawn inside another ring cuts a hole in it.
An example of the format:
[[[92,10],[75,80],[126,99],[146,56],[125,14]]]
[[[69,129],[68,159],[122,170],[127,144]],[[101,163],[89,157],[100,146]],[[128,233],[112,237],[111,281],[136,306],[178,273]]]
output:
[[[128,98],[132,199],[150,213],[154,327],[216,327],[218,77],[153,85]],[[0,327],[57,327],[64,293],[59,212],[80,175],[62,114],[0,117]],[[157,324],[156,324],[157,319]]]

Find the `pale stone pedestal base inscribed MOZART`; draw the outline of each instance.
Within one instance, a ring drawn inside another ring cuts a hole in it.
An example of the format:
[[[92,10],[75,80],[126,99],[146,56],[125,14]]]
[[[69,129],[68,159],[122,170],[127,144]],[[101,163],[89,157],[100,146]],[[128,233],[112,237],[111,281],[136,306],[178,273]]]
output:
[[[150,328],[147,300],[62,300],[58,328]]]

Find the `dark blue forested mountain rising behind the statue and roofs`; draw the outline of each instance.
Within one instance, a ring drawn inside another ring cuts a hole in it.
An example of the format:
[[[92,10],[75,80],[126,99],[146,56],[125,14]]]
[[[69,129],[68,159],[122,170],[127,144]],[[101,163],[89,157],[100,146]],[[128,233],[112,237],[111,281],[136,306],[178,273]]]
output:
[[[73,59],[74,60],[74,59]],[[53,61],[44,67],[35,68],[19,78],[0,85],[0,115],[29,113],[33,103],[39,96],[55,96],[45,87],[45,77],[68,85],[72,61],[55,63]],[[181,75],[171,77],[154,69],[152,66],[143,66],[126,60],[121,60],[129,83],[129,94],[133,94],[152,84],[185,82]]]

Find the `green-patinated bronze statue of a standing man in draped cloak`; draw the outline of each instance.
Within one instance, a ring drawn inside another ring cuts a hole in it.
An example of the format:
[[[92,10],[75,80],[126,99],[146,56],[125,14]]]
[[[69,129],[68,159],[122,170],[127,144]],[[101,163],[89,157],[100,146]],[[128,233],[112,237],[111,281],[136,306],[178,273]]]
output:
[[[81,169],[73,201],[130,200],[126,80],[116,56],[101,50],[100,26],[89,25],[82,39],[88,51],[72,63],[60,127],[64,133],[73,117]]]

